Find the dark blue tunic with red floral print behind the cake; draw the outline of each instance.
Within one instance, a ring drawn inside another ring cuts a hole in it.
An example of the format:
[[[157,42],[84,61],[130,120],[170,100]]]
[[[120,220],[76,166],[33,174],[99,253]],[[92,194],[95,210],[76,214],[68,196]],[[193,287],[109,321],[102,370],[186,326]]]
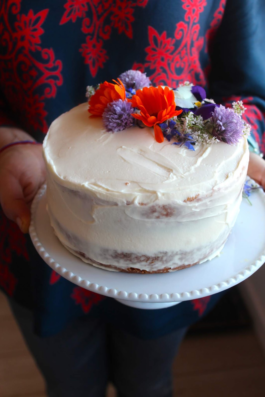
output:
[[[50,123],[96,85],[128,69],[154,85],[202,85],[208,98],[242,99],[261,150],[265,135],[263,0],[2,0],[0,125],[42,141]],[[219,294],[162,310],[129,308],[47,266],[0,210],[0,287],[35,313],[39,335],[76,316],[101,316],[141,337],[192,324]]]

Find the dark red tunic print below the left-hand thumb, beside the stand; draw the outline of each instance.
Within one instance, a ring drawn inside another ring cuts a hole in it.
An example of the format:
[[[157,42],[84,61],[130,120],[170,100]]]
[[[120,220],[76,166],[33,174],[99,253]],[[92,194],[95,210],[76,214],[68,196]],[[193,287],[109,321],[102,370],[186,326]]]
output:
[[[2,210],[0,210],[0,236],[0,286],[12,296],[18,281],[9,268],[12,263],[12,253],[22,256],[25,260],[29,260],[29,256],[23,233],[14,222],[6,218]]]

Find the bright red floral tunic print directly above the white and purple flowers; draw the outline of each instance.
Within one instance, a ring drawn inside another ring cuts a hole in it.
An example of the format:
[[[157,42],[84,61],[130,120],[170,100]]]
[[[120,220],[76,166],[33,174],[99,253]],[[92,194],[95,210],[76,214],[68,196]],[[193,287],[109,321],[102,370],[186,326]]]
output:
[[[148,27],[149,46],[145,48],[146,62],[135,62],[133,69],[145,71],[149,68],[150,79],[156,85],[168,85],[176,88],[184,81],[205,86],[206,77],[199,61],[200,52],[205,44],[199,36],[199,17],[207,5],[206,0],[181,0],[186,11],[184,21],[176,25],[174,38],[167,37],[166,32],[159,34],[153,27]],[[221,1],[222,2],[222,1]],[[221,14],[220,15],[221,19]]]

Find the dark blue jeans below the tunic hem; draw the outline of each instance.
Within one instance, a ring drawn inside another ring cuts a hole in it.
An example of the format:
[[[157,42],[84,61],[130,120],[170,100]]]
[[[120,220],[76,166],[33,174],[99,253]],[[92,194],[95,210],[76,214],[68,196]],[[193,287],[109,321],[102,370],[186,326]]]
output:
[[[187,328],[142,340],[98,319],[80,318],[57,335],[33,333],[32,313],[11,309],[49,397],[103,397],[107,383],[119,397],[171,397],[171,366]]]

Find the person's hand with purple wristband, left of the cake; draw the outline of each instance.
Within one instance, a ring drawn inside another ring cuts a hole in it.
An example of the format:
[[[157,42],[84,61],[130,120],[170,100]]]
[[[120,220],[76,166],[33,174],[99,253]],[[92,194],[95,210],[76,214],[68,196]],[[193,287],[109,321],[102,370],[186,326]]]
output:
[[[31,140],[24,131],[0,128],[0,148],[8,143]],[[16,222],[23,233],[30,223],[30,205],[45,181],[41,145],[14,145],[0,153],[0,204],[4,214]]]

